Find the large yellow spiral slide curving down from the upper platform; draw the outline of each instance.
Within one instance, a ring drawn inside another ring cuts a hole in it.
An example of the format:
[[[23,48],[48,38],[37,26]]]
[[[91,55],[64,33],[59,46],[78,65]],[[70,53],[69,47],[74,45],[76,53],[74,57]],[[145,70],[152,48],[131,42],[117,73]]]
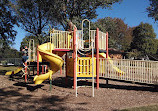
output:
[[[42,57],[42,59],[46,60],[50,63],[50,70],[46,74],[36,75],[34,77],[35,84],[41,84],[44,80],[52,78],[52,75],[60,70],[64,61],[58,55],[51,53],[54,49],[54,45],[49,43],[42,44],[38,47],[38,51]]]

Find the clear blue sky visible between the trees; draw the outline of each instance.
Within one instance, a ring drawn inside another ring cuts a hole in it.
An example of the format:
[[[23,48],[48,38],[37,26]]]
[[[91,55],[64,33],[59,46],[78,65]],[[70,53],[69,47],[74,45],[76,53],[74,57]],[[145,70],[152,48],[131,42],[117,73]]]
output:
[[[146,12],[146,8],[149,5],[149,0],[123,0],[120,4],[114,4],[111,10],[97,9],[97,19],[104,17],[117,17],[123,19],[124,22],[131,27],[138,26],[141,22],[149,23],[152,24],[158,38],[158,24],[156,24],[153,19],[149,18],[148,13]],[[15,30],[17,30],[18,34],[13,48],[19,50],[20,43],[27,33],[18,27],[15,27]]]

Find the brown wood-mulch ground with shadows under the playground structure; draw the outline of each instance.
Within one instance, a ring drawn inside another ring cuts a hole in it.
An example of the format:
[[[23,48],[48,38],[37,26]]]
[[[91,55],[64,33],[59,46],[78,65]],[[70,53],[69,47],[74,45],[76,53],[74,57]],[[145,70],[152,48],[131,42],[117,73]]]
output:
[[[78,97],[72,89],[72,81],[65,85],[64,75],[59,72],[53,75],[52,91],[49,91],[49,81],[41,85],[28,83],[19,76],[9,78],[0,74],[0,108],[5,111],[114,111],[118,109],[145,106],[158,103],[158,90],[151,86],[136,85],[118,81],[100,80],[100,89],[78,89]],[[81,82],[80,84],[91,85]]]

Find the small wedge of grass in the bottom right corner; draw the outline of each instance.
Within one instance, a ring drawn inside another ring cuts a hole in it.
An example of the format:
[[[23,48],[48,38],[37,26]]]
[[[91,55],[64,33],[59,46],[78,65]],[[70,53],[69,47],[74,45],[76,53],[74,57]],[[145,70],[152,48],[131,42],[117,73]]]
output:
[[[120,111],[158,111],[158,105],[134,107],[134,108],[122,109]]]

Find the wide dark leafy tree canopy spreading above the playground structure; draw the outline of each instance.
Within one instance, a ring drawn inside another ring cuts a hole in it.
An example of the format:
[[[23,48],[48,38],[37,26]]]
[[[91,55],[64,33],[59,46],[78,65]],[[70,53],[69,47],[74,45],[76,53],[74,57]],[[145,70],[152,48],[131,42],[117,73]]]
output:
[[[69,21],[78,26],[84,18],[95,18],[97,8],[111,7],[119,1],[122,0],[17,0],[12,7],[23,29],[38,36],[48,24],[67,30]]]

